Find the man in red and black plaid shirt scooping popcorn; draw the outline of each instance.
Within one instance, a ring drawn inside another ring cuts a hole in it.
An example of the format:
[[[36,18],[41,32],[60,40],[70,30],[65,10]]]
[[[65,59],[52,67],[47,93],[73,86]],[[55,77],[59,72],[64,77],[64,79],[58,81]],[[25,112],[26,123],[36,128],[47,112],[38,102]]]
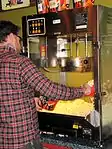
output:
[[[90,88],[66,87],[46,78],[30,59],[19,55],[18,32],[12,22],[0,21],[0,149],[42,149],[34,93],[70,100]]]

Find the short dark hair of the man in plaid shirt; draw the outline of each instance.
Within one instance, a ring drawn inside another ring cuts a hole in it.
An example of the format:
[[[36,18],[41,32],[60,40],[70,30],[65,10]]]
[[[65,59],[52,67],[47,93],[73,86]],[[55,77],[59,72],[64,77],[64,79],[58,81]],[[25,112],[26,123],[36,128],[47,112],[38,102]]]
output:
[[[5,20],[0,21],[0,42],[5,41],[5,38],[10,33],[17,35],[19,29],[20,28],[17,25],[13,24],[10,21]]]

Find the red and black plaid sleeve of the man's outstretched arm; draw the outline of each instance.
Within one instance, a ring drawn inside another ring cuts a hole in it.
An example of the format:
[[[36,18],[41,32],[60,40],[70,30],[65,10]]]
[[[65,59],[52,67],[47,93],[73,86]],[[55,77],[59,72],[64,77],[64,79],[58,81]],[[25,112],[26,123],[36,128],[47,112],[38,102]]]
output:
[[[81,87],[66,87],[49,80],[28,58],[22,59],[20,69],[24,83],[49,99],[74,99],[83,96]]]

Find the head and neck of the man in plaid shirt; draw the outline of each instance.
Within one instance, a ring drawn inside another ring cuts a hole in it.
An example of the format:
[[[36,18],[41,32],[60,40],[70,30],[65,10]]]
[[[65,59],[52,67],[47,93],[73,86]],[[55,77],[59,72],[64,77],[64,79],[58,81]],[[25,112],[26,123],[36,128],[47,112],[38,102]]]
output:
[[[0,44],[11,44],[17,52],[21,50],[19,27],[10,21],[0,21]]]

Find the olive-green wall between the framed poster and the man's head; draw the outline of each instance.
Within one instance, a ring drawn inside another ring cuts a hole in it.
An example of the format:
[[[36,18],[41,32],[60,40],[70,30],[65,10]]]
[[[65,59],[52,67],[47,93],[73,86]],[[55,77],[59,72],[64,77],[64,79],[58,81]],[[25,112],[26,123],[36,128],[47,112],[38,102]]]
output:
[[[32,14],[36,14],[35,6],[0,12],[0,20],[10,20],[21,27],[22,16]],[[20,35],[22,35],[22,31],[20,31]]]

